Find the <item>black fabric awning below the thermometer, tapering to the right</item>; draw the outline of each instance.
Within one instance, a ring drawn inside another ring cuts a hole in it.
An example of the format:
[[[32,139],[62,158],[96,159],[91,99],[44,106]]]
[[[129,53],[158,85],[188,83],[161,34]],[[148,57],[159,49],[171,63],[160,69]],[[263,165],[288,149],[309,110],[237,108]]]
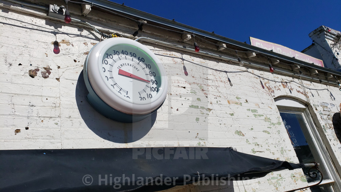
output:
[[[158,191],[302,167],[217,147],[0,150],[0,191]]]

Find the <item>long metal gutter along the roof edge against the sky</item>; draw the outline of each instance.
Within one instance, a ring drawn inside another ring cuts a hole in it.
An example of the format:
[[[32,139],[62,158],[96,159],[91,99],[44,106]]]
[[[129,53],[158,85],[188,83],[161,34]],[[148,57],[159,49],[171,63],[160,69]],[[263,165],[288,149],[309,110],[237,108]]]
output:
[[[290,62],[296,63],[298,65],[307,66],[307,67],[310,67],[310,68],[313,68],[313,69],[316,69],[316,70],[320,70],[320,71],[328,72],[328,73],[331,73],[331,74],[334,74],[334,75],[337,75],[337,76],[341,76],[341,72],[339,72],[339,71],[335,71],[335,70],[332,70],[332,69],[320,67],[320,66],[317,66],[317,65],[314,65],[314,64],[310,64],[310,63],[307,63],[305,61],[301,61],[301,60],[298,60],[298,59],[295,59],[295,58],[292,58],[292,57],[288,57],[288,56],[281,55],[281,54],[278,54],[278,53],[275,53],[275,52],[272,52],[272,51],[261,49],[259,47],[256,47],[256,46],[253,46],[253,45],[250,45],[250,44],[247,44],[247,43],[243,43],[243,42],[240,42],[240,41],[237,41],[237,40],[226,38],[226,37],[223,37],[223,36],[220,36],[220,35],[217,35],[217,34],[214,34],[214,33],[208,32],[208,31],[205,31],[205,30],[197,29],[195,27],[191,27],[191,26],[188,26],[188,25],[185,25],[185,24],[182,24],[182,23],[175,22],[173,20],[169,20],[169,19],[166,19],[166,18],[163,18],[163,17],[159,17],[159,16],[152,15],[152,14],[149,14],[149,13],[146,13],[146,12],[143,12],[143,11],[139,11],[139,10],[130,8],[130,7],[125,6],[125,5],[121,5],[121,4],[118,4],[118,3],[114,3],[114,2],[110,2],[110,1],[105,1],[105,0],[91,0],[91,1],[82,0],[82,1],[90,3],[90,4],[93,3],[93,4],[97,5],[97,6],[100,6],[100,7],[105,8],[105,9],[109,9],[109,10],[116,11],[116,12],[119,12],[119,13],[127,14],[127,15],[134,16],[134,17],[138,17],[138,18],[141,18],[141,19],[144,19],[144,20],[147,20],[147,21],[151,21],[151,22],[154,22],[154,23],[158,23],[158,24],[161,24],[161,25],[164,25],[164,26],[176,28],[176,29],[178,29],[180,31],[187,31],[189,33],[194,33],[195,35],[201,35],[201,36],[204,36],[204,37],[208,37],[210,39],[214,39],[214,40],[217,40],[217,41],[220,41],[220,42],[224,42],[224,43],[228,43],[228,44],[231,44],[231,45],[234,45],[234,46],[238,46],[238,47],[241,47],[241,48],[249,50],[249,51],[259,52],[259,53],[268,55],[270,57],[276,57],[276,58],[279,58],[279,59],[282,59],[282,60],[286,60],[286,61],[290,61]]]

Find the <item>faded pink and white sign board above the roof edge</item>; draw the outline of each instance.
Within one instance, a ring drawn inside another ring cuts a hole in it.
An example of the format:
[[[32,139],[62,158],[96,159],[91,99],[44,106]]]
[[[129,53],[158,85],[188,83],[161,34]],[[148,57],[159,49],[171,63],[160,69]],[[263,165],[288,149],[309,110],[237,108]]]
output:
[[[266,49],[269,51],[272,50],[275,53],[286,55],[288,57],[295,57],[295,59],[299,59],[299,60],[305,61],[307,63],[313,63],[314,65],[324,67],[323,61],[321,59],[316,59],[315,57],[312,57],[312,56],[306,55],[304,53],[289,49],[288,47],[285,47],[283,45],[263,41],[263,40],[256,39],[253,37],[250,37],[250,42],[251,42],[251,45],[253,45],[253,46],[260,47],[262,49]]]

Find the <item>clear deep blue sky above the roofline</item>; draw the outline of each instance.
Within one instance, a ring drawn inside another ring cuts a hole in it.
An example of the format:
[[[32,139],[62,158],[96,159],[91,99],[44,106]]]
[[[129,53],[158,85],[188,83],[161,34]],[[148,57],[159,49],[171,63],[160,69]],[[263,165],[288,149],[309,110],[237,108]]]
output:
[[[250,43],[251,36],[297,51],[321,25],[341,30],[341,0],[112,1],[238,41]]]

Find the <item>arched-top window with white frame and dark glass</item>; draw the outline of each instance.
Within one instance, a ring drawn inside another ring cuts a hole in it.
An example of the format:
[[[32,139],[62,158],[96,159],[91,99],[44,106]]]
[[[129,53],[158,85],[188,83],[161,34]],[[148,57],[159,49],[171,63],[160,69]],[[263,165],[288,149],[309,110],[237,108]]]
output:
[[[303,102],[289,97],[276,98],[275,103],[299,162],[310,163],[315,161],[320,163],[319,168],[323,174],[323,181],[318,186],[311,187],[310,190],[312,192],[341,191],[340,177],[333,166],[307,106]],[[306,174],[308,168],[303,168],[303,172]],[[306,178],[311,186],[320,181],[321,174],[318,173],[315,179],[307,175]]]

